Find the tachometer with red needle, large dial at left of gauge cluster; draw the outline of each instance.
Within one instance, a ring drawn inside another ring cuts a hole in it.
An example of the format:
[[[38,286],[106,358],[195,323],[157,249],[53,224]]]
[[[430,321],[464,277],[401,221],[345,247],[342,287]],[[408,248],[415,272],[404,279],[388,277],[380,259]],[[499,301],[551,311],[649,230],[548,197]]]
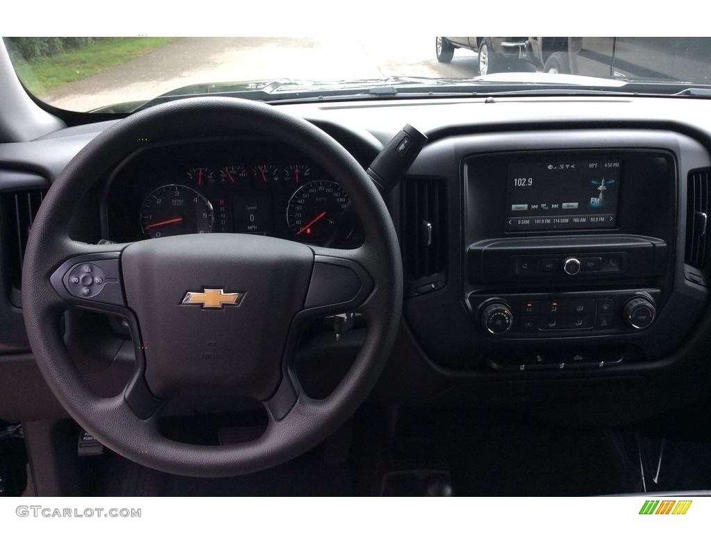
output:
[[[151,192],[141,205],[141,228],[149,239],[210,233],[213,222],[210,202],[185,185],[163,185]]]

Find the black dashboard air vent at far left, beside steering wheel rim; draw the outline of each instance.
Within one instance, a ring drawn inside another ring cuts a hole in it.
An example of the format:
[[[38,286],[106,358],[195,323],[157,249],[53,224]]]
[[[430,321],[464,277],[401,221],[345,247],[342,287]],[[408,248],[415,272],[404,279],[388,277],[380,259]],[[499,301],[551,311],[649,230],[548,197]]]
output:
[[[27,237],[46,189],[4,192],[0,196],[6,288],[14,306],[22,306],[22,262]]]

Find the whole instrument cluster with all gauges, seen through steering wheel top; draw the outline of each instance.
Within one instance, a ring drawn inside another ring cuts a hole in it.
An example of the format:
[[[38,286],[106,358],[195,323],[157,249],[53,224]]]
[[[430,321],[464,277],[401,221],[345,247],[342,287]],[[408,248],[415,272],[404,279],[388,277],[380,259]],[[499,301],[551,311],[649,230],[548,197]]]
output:
[[[109,178],[104,235],[118,242],[188,233],[252,233],[309,244],[362,242],[341,185],[275,141],[157,146]]]

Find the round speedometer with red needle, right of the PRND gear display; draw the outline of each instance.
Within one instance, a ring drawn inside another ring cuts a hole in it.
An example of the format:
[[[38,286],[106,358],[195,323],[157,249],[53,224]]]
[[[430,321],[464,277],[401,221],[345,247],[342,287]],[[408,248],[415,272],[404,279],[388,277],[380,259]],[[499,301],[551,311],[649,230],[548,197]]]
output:
[[[304,242],[326,242],[336,230],[346,204],[348,195],[335,181],[316,180],[301,185],[287,207],[292,235]]]

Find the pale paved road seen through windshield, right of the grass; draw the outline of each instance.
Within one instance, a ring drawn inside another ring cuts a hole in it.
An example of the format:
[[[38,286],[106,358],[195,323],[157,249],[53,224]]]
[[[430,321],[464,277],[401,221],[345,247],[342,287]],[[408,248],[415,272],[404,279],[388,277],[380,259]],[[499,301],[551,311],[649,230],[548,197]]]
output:
[[[437,63],[434,37],[182,38],[149,54],[73,82],[46,96],[51,104],[87,111],[149,99],[193,83],[294,77],[353,80],[397,75],[474,77],[476,54],[457,50]]]

